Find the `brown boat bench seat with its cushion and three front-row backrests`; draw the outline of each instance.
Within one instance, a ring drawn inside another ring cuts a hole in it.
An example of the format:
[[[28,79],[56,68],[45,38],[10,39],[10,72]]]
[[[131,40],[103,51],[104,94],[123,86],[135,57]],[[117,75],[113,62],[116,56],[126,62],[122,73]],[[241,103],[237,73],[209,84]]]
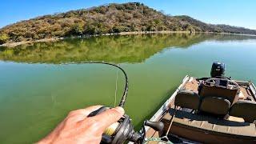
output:
[[[255,113],[250,113],[251,116],[253,116],[252,119],[247,119],[247,115],[243,115],[242,113],[243,110],[247,110],[250,107],[252,107],[252,109],[256,108],[255,105],[251,106],[251,103],[237,102],[230,109],[230,102],[225,98],[208,96],[202,98],[201,106],[199,106],[200,97],[198,94],[191,91],[180,90],[176,95],[174,104],[175,109],[170,108],[169,114],[166,114],[161,120],[165,124],[164,134],[168,130],[173,118],[170,134],[175,134],[182,138],[206,143],[256,142],[256,127],[254,123],[250,123],[255,117]],[[185,110],[177,110],[177,106],[194,110],[199,109],[208,113],[221,115],[228,114],[230,109],[230,114],[244,117],[246,118],[246,122],[233,122],[208,114],[194,114]],[[255,111],[256,110],[254,110],[254,112]],[[175,116],[173,117],[173,115]]]

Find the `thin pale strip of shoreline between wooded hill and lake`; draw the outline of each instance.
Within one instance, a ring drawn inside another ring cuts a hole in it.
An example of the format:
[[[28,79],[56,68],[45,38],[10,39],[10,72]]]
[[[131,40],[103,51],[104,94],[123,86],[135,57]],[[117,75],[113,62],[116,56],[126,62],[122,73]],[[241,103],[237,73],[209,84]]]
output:
[[[132,31],[132,32],[120,32],[120,33],[109,33],[109,34],[91,34],[91,35],[78,35],[71,37],[61,37],[61,38],[43,38],[38,40],[23,41],[23,42],[7,42],[0,46],[14,47],[24,44],[33,44],[35,42],[57,42],[66,38],[90,38],[98,36],[109,36],[109,35],[134,35],[134,34],[230,34],[230,35],[241,35],[241,36],[256,36],[253,34],[231,34],[231,33],[215,33],[215,32],[190,32],[190,31]]]

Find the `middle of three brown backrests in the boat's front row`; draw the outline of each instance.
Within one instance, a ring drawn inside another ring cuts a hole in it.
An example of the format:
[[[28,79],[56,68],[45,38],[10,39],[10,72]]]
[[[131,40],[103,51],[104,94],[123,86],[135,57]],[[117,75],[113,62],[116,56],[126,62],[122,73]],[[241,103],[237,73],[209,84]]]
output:
[[[218,97],[204,97],[202,98],[200,111],[225,116],[228,114],[230,110],[230,101],[225,98],[218,98]]]

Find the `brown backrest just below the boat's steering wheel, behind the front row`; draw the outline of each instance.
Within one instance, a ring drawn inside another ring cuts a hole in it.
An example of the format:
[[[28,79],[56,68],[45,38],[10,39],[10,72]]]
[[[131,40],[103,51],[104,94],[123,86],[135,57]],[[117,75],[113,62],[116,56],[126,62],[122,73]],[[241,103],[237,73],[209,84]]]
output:
[[[230,90],[223,87],[218,86],[208,86],[202,83],[202,88],[200,90],[201,97],[217,97],[217,98],[225,98],[230,101],[232,104],[234,102],[234,98],[237,96],[239,90]]]

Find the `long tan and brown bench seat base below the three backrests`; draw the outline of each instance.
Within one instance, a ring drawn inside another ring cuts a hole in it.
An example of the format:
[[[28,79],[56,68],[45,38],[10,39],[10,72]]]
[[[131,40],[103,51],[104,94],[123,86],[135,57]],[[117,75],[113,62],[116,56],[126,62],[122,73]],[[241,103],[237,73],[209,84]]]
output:
[[[169,113],[162,118],[162,122],[165,124],[164,134],[170,125],[174,109],[170,109]],[[232,122],[221,118],[192,114],[183,110],[176,111],[170,134],[206,143],[256,142],[254,123]]]

